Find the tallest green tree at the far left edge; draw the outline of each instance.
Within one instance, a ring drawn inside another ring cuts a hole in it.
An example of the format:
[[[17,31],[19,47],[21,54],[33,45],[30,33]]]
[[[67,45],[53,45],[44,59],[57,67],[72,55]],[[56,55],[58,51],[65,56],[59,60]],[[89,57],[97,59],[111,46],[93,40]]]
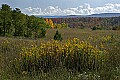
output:
[[[1,18],[1,24],[2,24],[1,26],[3,28],[3,30],[1,30],[3,36],[5,36],[6,34],[9,34],[10,31],[12,31],[11,12],[12,12],[12,9],[10,8],[9,5],[2,4],[2,7],[0,9],[0,18]]]

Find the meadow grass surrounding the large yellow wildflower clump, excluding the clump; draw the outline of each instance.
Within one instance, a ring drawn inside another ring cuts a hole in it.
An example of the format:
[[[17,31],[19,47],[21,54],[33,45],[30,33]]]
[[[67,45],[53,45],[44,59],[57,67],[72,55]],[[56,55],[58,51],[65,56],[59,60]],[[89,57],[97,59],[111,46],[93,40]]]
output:
[[[64,28],[58,29],[63,40],[78,38],[87,41],[100,50],[106,50],[109,60],[101,71],[75,72],[65,67],[53,68],[44,73],[22,74],[11,69],[11,61],[18,58],[23,47],[51,41],[57,29],[47,29],[45,38],[23,39],[0,37],[0,80],[119,80],[120,79],[120,31]]]

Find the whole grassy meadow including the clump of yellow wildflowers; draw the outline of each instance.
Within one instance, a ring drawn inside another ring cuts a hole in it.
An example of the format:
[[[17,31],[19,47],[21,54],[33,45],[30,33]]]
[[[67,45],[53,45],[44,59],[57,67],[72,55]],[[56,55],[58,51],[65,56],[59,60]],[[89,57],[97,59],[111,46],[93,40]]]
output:
[[[56,30],[62,41],[53,40]],[[47,29],[38,39],[0,37],[0,80],[119,79],[118,30],[62,28]]]

